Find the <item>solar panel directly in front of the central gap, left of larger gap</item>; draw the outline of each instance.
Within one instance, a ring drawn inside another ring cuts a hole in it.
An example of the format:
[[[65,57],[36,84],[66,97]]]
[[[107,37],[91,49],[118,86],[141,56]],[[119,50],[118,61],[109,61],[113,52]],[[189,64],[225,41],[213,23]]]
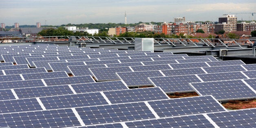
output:
[[[103,92],[111,104],[169,99],[160,88],[139,88]]]

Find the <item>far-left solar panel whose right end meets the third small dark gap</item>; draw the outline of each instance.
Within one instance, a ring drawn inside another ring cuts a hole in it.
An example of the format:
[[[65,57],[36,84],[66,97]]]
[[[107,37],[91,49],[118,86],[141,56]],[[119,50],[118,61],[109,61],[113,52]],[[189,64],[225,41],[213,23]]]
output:
[[[26,74],[26,73],[46,73],[47,71],[45,68],[25,68],[25,69],[9,69],[4,70],[6,75],[13,75],[13,74]]]

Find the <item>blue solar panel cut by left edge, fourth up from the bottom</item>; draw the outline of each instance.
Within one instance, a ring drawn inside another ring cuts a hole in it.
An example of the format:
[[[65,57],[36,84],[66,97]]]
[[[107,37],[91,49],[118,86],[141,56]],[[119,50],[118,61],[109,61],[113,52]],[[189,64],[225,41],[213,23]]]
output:
[[[44,83],[41,79],[0,82],[0,89],[27,88],[37,86],[44,86]]]

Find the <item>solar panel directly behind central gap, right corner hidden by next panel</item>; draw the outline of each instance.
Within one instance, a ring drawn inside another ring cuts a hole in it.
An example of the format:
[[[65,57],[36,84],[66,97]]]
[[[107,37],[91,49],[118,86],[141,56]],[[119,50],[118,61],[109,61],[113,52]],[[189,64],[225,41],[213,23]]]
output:
[[[159,71],[122,72],[116,74],[127,86],[152,86],[148,77],[163,76]]]

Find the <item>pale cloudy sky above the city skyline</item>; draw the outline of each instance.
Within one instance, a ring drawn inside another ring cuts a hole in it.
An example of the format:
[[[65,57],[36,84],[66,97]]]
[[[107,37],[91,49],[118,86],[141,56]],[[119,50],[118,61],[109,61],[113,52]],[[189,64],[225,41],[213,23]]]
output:
[[[256,0],[0,0],[0,23],[62,25],[85,23],[218,21],[223,14],[252,20]],[[256,14],[254,14],[256,20]]]

